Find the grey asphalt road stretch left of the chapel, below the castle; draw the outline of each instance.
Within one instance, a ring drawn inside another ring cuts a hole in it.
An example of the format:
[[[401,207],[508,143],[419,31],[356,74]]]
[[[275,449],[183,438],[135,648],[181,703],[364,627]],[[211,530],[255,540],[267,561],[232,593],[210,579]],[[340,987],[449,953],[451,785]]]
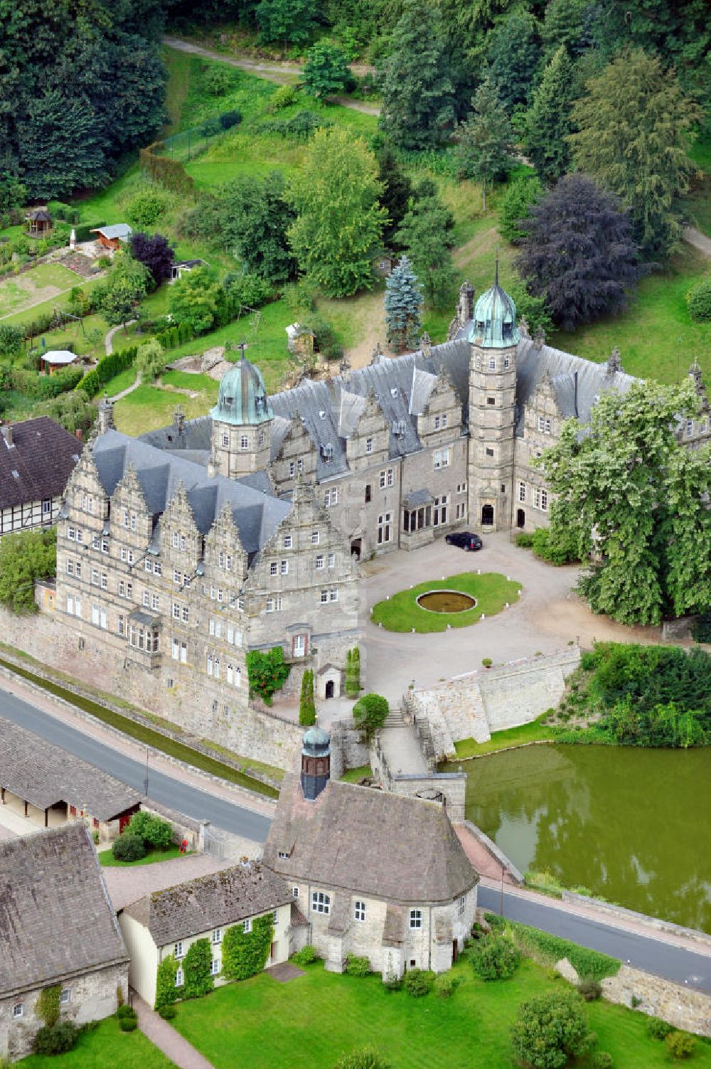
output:
[[[117,779],[141,791],[145,788],[145,764],[125,757],[119,750],[82,734],[55,716],[43,713],[29,701],[16,698],[0,687],[0,715],[34,731],[48,742],[76,754],[90,764],[109,772]],[[151,768],[149,761],[149,795],[155,802],[177,809],[194,820],[208,820],[235,835],[263,842],[269,828],[268,817],[252,812],[244,806],[214,797],[207,791],[182,783],[180,770],[168,776]]]

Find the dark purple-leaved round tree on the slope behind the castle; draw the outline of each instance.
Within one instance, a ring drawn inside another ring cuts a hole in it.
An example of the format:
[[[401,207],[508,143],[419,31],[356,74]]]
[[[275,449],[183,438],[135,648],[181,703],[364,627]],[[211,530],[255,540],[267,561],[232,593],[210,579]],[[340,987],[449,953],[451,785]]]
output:
[[[559,326],[573,330],[624,307],[640,268],[630,220],[615,197],[584,174],[569,174],[528,218],[515,264]]]

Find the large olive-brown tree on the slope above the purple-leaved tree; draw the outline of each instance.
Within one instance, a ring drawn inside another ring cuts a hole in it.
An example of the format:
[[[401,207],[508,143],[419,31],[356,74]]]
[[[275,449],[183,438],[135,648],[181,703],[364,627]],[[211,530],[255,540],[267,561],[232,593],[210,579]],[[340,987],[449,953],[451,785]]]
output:
[[[681,233],[678,199],[689,188],[687,135],[699,109],[673,69],[636,49],[588,81],[572,118],[575,166],[628,205],[645,254],[665,259]]]

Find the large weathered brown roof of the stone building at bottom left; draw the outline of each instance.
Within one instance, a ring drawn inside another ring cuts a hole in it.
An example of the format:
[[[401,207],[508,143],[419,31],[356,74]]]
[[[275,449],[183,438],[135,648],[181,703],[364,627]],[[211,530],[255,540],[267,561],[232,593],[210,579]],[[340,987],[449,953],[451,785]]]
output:
[[[0,841],[0,998],[127,960],[83,823]]]

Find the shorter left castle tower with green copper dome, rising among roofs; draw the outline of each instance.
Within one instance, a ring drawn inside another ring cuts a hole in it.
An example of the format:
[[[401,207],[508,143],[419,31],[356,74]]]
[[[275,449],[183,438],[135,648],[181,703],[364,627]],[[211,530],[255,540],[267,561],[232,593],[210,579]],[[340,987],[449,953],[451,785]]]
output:
[[[242,358],[222,375],[217,404],[211,409],[212,460],[217,475],[239,479],[269,463],[272,420],[264,379]]]

